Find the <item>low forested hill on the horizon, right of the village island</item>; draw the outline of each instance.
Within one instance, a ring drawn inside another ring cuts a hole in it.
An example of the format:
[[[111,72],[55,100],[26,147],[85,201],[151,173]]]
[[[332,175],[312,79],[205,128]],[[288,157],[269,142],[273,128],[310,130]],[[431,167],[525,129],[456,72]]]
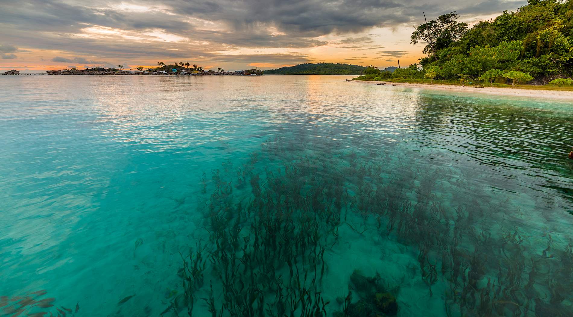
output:
[[[361,75],[366,67],[340,63],[299,64],[265,70],[263,74],[280,75]]]

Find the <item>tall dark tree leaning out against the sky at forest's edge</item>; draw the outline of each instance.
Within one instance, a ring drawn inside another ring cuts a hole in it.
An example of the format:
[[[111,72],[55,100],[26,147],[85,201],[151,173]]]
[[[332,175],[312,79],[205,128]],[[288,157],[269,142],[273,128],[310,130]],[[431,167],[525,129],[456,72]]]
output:
[[[468,29],[468,23],[457,22],[456,20],[460,18],[460,15],[453,11],[448,14],[442,14],[437,19],[427,22],[426,14],[424,14],[424,20],[426,23],[419,25],[414,33],[412,34],[412,44],[418,43],[422,40],[427,43],[423,50],[424,54],[428,54],[430,51],[432,56],[437,61],[438,56],[436,51],[447,47],[450,43],[456,41]]]

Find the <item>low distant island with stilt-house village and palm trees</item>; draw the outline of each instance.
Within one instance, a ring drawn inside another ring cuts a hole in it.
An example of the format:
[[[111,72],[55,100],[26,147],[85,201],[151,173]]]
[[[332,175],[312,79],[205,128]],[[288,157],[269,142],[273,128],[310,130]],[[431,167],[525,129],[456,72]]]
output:
[[[176,63],[166,65],[164,62],[158,62],[158,67],[147,68],[138,66],[137,68],[125,70],[123,65],[117,65],[117,68],[88,68],[88,69],[64,69],[64,70],[47,70],[48,75],[170,75],[170,76],[261,76],[262,72],[258,69],[236,70],[235,72],[225,72],[219,68],[214,70],[203,70],[201,66],[191,65],[189,63]]]

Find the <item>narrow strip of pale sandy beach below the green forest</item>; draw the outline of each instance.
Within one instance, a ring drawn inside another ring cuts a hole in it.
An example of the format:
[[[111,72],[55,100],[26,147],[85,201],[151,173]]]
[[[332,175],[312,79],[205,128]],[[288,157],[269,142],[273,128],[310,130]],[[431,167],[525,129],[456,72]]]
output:
[[[573,100],[573,92],[559,91],[559,90],[529,90],[523,88],[499,88],[484,86],[457,86],[457,85],[429,85],[429,84],[410,84],[407,82],[390,82],[390,81],[364,81],[354,80],[352,82],[360,82],[363,84],[380,84],[384,83],[388,86],[395,85],[410,88],[422,89],[437,89],[437,90],[450,90],[454,92],[472,92],[472,93],[486,93],[496,94],[500,96],[517,96],[517,97],[535,97],[555,100]]]

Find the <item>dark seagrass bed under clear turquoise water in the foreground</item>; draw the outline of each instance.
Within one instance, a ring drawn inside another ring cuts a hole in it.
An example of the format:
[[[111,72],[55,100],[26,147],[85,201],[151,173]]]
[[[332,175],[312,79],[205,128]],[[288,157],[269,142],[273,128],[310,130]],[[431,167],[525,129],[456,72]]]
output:
[[[416,296],[439,303],[438,315],[571,314],[570,236],[505,226],[523,216],[515,201],[452,179],[456,167],[412,171],[415,157],[395,157],[390,142],[358,137],[356,151],[311,134],[272,138],[248,163],[204,176],[208,239],[181,255],[182,291],[162,315],[205,315],[197,306],[213,316],[418,315],[402,283],[423,286]],[[417,261],[399,281],[386,267],[355,270],[348,289],[325,298],[346,239],[375,243],[372,257],[396,243]]]

